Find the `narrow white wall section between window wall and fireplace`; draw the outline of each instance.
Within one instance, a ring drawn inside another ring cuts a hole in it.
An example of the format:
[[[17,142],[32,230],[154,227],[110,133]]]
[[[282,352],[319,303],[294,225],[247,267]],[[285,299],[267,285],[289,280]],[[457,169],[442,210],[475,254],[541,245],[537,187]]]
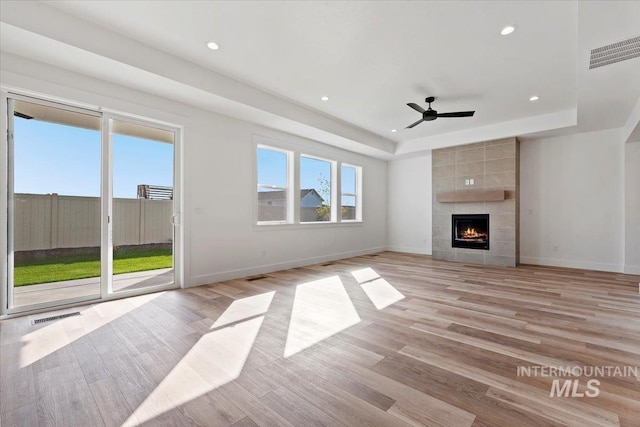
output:
[[[389,162],[390,250],[431,255],[431,154]]]

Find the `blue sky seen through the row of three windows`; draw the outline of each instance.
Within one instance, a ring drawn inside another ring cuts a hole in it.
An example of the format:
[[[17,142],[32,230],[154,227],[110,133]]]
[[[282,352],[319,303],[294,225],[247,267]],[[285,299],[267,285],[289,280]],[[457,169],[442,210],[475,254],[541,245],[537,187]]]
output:
[[[300,188],[314,188],[325,199],[329,200],[328,194],[323,194],[323,185],[320,180],[328,179],[331,176],[331,165],[329,162],[300,157]],[[258,149],[258,183],[267,185],[277,185],[284,187],[287,182],[287,157],[280,151]],[[345,167],[342,169],[342,191],[345,193],[355,193],[356,174],[355,169]],[[343,198],[342,204],[353,206],[353,198]]]

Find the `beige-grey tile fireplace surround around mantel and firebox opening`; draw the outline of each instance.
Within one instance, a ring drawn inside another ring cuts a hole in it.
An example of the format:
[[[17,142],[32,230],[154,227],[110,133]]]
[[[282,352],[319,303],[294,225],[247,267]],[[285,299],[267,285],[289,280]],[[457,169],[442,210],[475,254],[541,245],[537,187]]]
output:
[[[519,154],[516,138],[442,148],[432,152],[433,259],[515,267],[519,241]],[[465,185],[468,179],[474,185]],[[504,201],[440,203],[451,191],[506,190]],[[453,214],[489,214],[489,250],[454,248]]]

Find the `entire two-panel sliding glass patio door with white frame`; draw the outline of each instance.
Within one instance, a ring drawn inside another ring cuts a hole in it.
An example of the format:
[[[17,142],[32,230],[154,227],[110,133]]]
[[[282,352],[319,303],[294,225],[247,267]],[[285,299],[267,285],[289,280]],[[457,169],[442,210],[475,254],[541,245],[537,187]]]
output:
[[[17,95],[6,101],[0,312],[175,287],[176,129]]]

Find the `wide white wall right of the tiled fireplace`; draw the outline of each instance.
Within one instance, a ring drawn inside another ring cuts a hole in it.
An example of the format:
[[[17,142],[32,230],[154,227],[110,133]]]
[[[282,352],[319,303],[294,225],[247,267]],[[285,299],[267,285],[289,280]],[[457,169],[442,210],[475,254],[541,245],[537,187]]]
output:
[[[522,142],[520,197],[521,263],[623,270],[619,129]]]

